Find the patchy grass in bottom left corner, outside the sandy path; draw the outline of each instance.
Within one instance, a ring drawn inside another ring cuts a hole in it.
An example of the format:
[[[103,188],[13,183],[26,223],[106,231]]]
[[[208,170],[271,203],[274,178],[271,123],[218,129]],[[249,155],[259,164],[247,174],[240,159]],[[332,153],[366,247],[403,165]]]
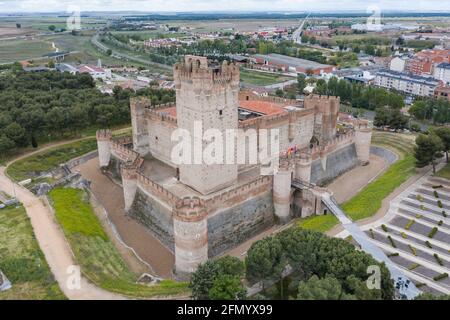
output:
[[[0,210],[0,269],[13,284],[0,300],[65,299],[23,207]]]

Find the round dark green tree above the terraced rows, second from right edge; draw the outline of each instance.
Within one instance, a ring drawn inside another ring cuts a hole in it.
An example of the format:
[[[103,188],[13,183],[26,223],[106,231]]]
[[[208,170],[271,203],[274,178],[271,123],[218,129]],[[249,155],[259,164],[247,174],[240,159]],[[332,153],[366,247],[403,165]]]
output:
[[[416,158],[416,166],[423,168],[429,164],[433,166],[433,173],[436,173],[436,159],[440,156],[440,152],[444,150],[444,144],[435,134],[420,134],[416,138],[416,146],[414,148],[414,156]]]

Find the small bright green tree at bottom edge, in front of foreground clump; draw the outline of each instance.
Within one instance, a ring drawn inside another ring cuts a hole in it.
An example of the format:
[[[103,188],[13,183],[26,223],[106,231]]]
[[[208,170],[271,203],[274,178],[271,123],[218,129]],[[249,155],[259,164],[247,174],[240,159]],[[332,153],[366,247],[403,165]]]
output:
[[[211,300],[244,300],[246,296],[247,290],[239,277],[228,274],[219,275],[209,290]]]

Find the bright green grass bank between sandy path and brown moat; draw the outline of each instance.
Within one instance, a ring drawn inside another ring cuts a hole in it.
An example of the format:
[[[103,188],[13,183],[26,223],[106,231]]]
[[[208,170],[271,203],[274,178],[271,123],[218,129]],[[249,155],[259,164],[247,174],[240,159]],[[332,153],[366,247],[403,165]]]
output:
[[[128,268],[103,231],[88,194],[77,189],[58,188],[50,199],[64,234],[83,274],[99,287],[132,297],[186,294],[187,283],[164,280],[154,286],[136,284],[137,276]]]

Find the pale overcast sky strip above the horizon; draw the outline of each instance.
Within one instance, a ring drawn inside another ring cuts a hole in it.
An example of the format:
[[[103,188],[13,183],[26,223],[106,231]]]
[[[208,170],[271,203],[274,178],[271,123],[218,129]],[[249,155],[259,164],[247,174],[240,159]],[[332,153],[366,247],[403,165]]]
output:
[[[0,0],[0,13],[66,11],[450,11],[450,0]]]

